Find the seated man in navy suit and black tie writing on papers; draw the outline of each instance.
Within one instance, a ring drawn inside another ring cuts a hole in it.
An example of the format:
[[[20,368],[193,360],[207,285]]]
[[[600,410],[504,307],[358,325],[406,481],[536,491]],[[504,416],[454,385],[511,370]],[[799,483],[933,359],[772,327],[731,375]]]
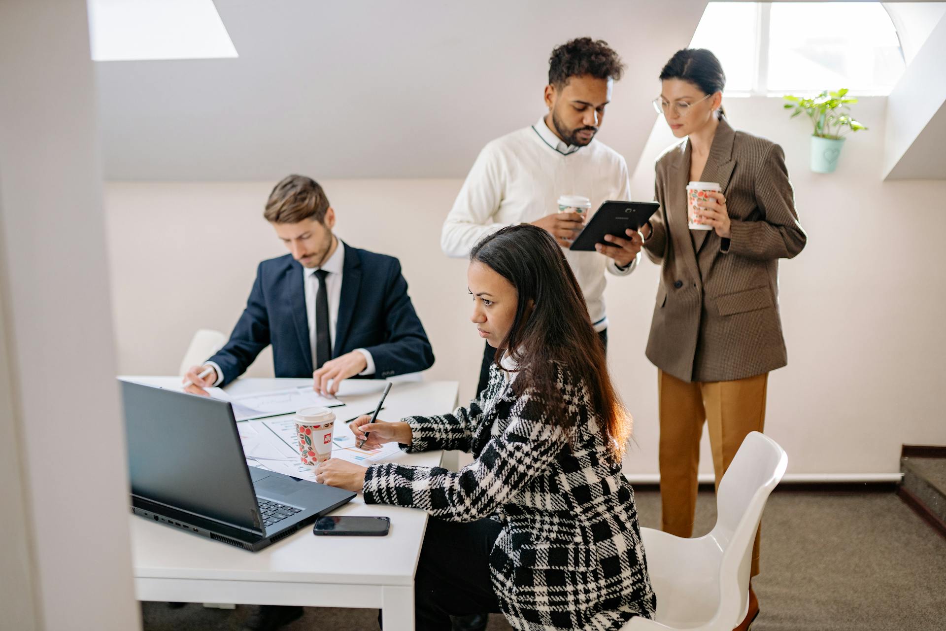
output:
[[[289,254],[259,264],[230,341],[188,370],[188,392],[230,383],[271,343],[276,377],[313,377],[320,394],[337,393],[349,377],[386,378],[433,364],[400,262],[332,234],[335,210],[322,186],[290,175],[272,189],[263,217]]]

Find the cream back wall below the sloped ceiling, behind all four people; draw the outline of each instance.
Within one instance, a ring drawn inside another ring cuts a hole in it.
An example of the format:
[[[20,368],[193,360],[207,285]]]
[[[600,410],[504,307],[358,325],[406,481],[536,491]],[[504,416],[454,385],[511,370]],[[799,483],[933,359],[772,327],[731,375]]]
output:
[[[809,233],[805,251],[781,268],[789,365],[771,376],[767,429],[788,450],[790,473],[896,472],[902,443],[946,444],[938,389],[946,338],[937,322],[946,306],[937,225],[946,182],[881,182],[883,98],[859,105],[871,130],[850,139],[832,175],[808,170],[810,131],[789,122],[778,99],[729,99],[726,107],[737,128],[785,148]],[[671,142],[661,132],[641,165]],[[173,373],[194,329],[229,333],[258,260],[284,252],[261,217],[272,184],[106,186],[121,371]],[[428,378],[459,379],[468,398],[482,342],[467,319],[465,262],[438,245],[462,182],[322,184],[342,238],[401,259],[437,357]],[[632,189],[652,199],[652,167],[638,170]],[[657,377],[643,354],[656,290],[650,263],[610,278],[607,289],[609,363],[636,418],[625,470],[637,479],[657,473]],[[251,373],[272,374],[272,360],[257,360]],[[708,454],[701,470],[711,471]]]

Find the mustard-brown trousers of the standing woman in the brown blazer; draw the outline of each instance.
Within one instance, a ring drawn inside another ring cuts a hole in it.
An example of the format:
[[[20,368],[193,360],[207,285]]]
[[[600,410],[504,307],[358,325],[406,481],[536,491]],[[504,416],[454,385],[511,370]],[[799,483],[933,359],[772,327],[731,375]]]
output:
[[[734,381],[687,382],[657,371],[660,416],[660,502],[666,533],[690,537],[696,510],[696,471],[703,422],[710,429],[716,488],[750,431],[765,423],[768,373]],[[752,576],[759,573],[759,534]]]

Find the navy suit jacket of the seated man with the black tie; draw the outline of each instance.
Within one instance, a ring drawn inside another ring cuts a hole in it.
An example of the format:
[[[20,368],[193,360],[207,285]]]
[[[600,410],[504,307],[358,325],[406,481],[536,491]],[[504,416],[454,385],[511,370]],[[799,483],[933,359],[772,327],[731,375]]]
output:
[[[342,297],[332,357],[364,348],[375,359],[375,374],[366,376],[371,378],[429,368],[433,351],[408,296],[400,261],[342,246]],[[271,343],[276,377],[312,377],[303,269],[289,254],[259,264],[230,341],[209,359],[223,371],[219,385],[242,375]]]

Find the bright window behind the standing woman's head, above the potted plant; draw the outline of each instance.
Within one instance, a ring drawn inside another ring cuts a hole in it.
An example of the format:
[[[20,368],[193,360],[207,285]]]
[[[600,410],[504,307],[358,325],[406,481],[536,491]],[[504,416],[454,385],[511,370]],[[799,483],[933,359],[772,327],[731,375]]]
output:
[[[905,67],[877,2],[710,2],[690,45],[719,58],[730,96],[841,87],[885,95]]]

